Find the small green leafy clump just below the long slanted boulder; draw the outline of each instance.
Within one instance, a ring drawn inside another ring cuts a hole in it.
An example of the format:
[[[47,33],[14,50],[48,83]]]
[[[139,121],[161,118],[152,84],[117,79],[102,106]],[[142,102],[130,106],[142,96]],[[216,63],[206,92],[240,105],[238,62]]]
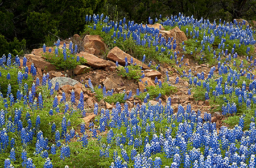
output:
[[[128,68],[128,73],[126,72],[126,68]],[[130,64],[129,66],[123,67],[123,66],[118,66],[117,67],[118,74],[122,75],[123,77],[127,77],[127,79],[131,80],[134,79],[138,81],[141,79],[141,68],[138,65],[133,65]]]

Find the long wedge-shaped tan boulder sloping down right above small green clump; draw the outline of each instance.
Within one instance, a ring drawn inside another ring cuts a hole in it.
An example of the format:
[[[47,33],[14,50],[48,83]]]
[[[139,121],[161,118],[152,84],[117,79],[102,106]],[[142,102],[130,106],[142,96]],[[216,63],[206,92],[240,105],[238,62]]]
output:
[[[118,61],[119,64],[121,64],[122,66],[125,66],[125,57],[127,57],[127,61],[128,64],[131,64],[131,55],[125,53],[124,51],[122,51],[121,49],[119,49],[117,46],[115,46],[112,50],[109,51],[107,58],[116,62]],[[136,63],[140,66],[142,66],[142,68],[145,69],[150,69],[146,64],[142,63],[141,61],[139,61],[136,58],[133,58],[133,63]]]

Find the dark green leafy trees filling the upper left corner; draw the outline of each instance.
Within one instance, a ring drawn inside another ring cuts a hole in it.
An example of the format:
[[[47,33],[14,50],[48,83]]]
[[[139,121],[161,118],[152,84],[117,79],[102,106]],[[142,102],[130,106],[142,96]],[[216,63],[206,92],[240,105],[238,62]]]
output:
[[[0,35],[8,42],[14,37],[24,38],[28,48],[34,49],[46,43],[49,37],[65,39],[80,33],[86,14],[101,14],[105,3],[106,0],[1,1]]]

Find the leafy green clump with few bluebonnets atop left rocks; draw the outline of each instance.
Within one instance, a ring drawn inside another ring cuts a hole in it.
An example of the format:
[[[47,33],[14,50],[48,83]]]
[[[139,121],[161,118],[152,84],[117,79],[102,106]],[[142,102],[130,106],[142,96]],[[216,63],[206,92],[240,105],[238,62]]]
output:
[[[58,52],[58,55],[55,55],[54,52],[46,52],[46,53],[43,53],[43,57],[44,59],[46,59],[46,61],[52,63],[57,70],[71,70],[73,68],[75,68],[77,65],[79,64],[83,64],[83,63],[86,63],[86,60],[84,59],[84,57],[80,57],[79,58],[79,61],[77,62],[77,57],[79,56],[76,56],[76,55],[73,55],[70,53],[70,51],[68,49],[66,54],[67,54],[67,59],[65,60],[64,59],[64,54],[63,54],[63,49],[59,49],[59,52]]]

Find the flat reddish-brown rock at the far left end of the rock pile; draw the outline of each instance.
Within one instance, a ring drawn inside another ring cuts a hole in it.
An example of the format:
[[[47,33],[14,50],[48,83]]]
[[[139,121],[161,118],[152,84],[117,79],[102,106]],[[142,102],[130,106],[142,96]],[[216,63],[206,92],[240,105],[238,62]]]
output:
[[[53,64],[44,61],[44,59],[39,56],[27,54],[26,57],[30,59],[30,62],[34,63],[36,68],[41,68],[42,71],[56,71],[56,67],[53,66]]]

